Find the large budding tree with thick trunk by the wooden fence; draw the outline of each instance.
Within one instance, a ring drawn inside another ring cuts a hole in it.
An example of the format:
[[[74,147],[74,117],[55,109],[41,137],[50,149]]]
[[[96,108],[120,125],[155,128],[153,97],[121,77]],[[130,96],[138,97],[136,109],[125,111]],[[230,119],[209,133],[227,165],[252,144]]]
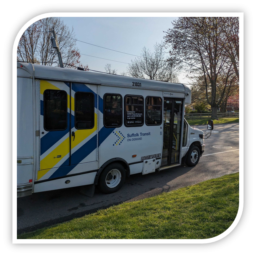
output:
[[[203,77],[207,103],[212,119],[218,119],[217,109],[225,97],[233,63],[224,47],[228,44],[228,23],[221,17],[180,17],[164,37],[169,54],[179,60],[195,77]],[[225,29],[226,28],[226,29]],[[223,81],[218,86],[218,77]]]

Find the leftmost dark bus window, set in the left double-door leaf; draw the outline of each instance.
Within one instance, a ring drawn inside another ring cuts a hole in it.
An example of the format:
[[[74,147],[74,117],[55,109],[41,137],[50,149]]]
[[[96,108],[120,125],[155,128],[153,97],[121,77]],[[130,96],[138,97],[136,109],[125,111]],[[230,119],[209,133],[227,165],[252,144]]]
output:
[[[68,127],[68,95],[61,90],[44,91],[44,129],[61,131]]]

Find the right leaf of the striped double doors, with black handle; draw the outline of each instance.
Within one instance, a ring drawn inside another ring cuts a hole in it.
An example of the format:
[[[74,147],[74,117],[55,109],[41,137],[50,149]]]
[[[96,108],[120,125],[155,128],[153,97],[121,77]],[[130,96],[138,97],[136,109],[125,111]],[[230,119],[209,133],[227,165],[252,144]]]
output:
[[[71,165],[97,169],[97,85],[71,83],[71,96]]]

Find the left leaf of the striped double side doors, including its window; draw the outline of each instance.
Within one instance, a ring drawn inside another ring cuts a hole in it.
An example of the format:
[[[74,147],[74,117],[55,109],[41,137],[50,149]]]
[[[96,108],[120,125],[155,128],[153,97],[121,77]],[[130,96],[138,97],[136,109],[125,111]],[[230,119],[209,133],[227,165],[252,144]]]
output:
[[[70,88],[64,82],[40,80],[40,170],[48,179],[70,161]],[[43,177],[44,176],[44,177]]]

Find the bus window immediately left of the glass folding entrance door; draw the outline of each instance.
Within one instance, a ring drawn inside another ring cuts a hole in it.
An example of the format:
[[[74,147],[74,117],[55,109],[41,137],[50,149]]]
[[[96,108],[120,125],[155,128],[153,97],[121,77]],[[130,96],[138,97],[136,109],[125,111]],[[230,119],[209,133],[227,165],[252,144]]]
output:
[[[160,125],[162,123],[162,99],[160,97],[146,97],[146,125]]]

